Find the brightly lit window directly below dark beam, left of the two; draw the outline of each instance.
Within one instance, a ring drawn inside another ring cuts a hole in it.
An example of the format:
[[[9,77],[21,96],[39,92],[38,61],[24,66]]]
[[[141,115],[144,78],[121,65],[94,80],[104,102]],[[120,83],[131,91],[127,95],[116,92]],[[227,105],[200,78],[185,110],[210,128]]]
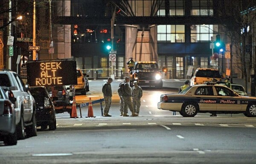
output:
[[[185,42],[185,25],[157,25],[157,42]]]

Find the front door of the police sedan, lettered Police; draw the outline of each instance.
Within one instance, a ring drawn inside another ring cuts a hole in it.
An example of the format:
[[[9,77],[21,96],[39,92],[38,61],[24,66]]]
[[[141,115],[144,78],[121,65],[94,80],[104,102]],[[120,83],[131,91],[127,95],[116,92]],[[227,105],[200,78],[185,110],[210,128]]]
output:
[[[241,110],[240,96],[233,90],[224,86],[215,86],[217,93],[217,110],[239,111]]]

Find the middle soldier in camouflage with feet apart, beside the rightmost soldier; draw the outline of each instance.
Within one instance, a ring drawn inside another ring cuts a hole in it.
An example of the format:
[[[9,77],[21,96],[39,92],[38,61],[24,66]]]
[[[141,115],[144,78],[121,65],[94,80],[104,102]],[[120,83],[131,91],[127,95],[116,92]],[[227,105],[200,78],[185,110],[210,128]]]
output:
[[[132,100],[131,100],[131,88],[129,83],[130,82],[130,78],[129,77],[125,77],[125,84],[124,84],[124,92],[122,93],[122,98],[124,101],[124,113],[123,116],[129,116],[128,113],[128,108],[131,110],[131,116],[138,116],[138,114],[134,113],[134,109],[132,106]]]

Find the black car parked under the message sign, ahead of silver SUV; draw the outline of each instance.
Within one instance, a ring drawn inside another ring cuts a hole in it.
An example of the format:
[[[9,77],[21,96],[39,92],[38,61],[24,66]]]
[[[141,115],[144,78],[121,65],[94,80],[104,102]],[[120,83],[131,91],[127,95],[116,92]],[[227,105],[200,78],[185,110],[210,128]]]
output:
[[[47,129],[47,126],[49,130],[55,130],[55,109],[46,88],[44,86],[31,87],[29,91],[35,99],[37,126],[41,126],[42,130]]]

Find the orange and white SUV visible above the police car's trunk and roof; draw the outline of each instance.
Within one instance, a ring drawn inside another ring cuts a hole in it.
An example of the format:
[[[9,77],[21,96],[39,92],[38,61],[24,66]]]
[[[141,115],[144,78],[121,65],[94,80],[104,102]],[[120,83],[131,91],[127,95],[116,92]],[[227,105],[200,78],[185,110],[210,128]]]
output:
[[[221,75],[217,69],[214,68],[197,68],[195,74],[190,80],[190,85],[204,84],[212,79],[221,82]]]

